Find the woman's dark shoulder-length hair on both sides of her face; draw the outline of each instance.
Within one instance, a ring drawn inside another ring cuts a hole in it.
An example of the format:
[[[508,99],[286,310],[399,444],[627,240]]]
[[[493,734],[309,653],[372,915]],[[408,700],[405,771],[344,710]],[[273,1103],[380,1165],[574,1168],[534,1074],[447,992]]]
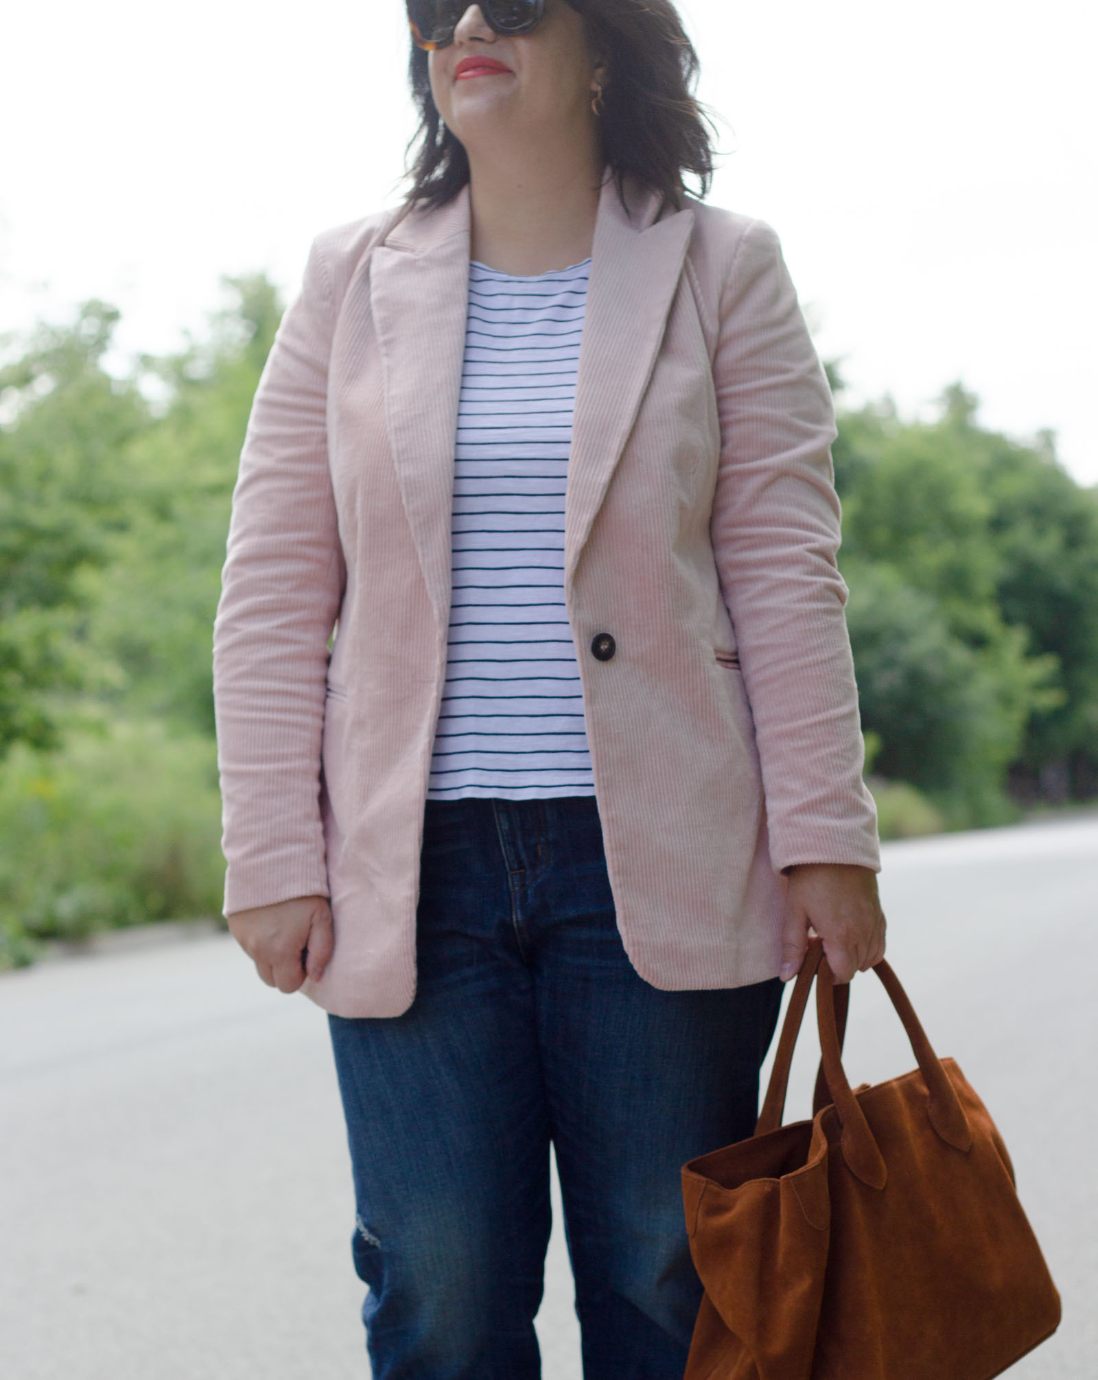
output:
[[[603,157],[625,200],[626,175],[679,207],[686,175],[705,196],[713,178],[712,121],[694,99],[698,54],[672,0],[567,0],[606,55],[607,83],[599,130]],[[428,55],[412,47],[408,63],[419,128],[408,145],[408,203],[446,206],[469,181],[461,141],[443,124],[430,94]]]

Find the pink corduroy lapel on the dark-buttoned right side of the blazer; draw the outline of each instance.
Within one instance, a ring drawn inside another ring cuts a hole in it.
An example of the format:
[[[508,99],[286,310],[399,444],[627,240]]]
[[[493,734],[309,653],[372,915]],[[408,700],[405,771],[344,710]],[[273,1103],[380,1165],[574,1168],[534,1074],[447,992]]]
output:
[[[626,184],[626,199],[632,215],[607,175],[595,225],[575,388],[564,502],[566,585],[633,428],[694,228],[690,210],[652,221],[655,193],[639,193]]]

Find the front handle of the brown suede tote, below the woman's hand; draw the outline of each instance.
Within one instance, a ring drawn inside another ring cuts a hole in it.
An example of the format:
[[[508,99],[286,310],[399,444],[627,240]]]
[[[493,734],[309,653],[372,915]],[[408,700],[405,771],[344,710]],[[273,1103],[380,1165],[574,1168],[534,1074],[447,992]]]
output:
[[[908,1039],[912,1045],[919,1071],[927,1086],[927,1118],[937,1134],[956,1150],[972,1148],[972,1129],[964,1115],[957,1092],[942,1068],[942,1061],[934,1053],[926,1031],[915,1014],[908,994],[899,985],[892,969],[881,959],[873,972],[884,984],[884,989],[895,1007]],[[807,988],[806,988],[807,992]],[[865,1119],[858,1098],[847,1081],[843,1068],[843,1053],[839,1042],[839,1028],[835,1010],[835,977],[825,958],[821,958],[817,973],[817,1020],[819,1023],[819,1047],[824,1053],[824,1074],[832,1093],[835,1110],[843,1126],[841,1150],[850,1172],[870,1188],[884,1188],[888,1170],[881,1158],[869,1122]]]

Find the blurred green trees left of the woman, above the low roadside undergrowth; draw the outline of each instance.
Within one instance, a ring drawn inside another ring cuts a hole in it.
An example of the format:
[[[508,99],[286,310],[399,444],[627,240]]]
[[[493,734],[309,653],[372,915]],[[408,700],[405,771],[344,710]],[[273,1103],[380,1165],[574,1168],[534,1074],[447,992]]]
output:
[[[103,368],[117,312],[99,302],[0,371],[0,756],[55,742],[51,701],[81,687],[212,733],[229,505],[281,312],[263,277],[228,286],[207,341],[134,378]]]

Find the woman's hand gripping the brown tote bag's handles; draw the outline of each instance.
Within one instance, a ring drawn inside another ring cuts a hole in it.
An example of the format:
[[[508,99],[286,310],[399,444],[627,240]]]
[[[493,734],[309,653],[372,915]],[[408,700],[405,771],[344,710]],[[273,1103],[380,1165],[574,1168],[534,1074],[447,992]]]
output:
[[[877,898],[877,875],[846,862],[801,862],[789,869],[782,922],[782,970],[796,977],[808,948],[808,926],[824,940],[836,983],[884,958],[884,912]]]

